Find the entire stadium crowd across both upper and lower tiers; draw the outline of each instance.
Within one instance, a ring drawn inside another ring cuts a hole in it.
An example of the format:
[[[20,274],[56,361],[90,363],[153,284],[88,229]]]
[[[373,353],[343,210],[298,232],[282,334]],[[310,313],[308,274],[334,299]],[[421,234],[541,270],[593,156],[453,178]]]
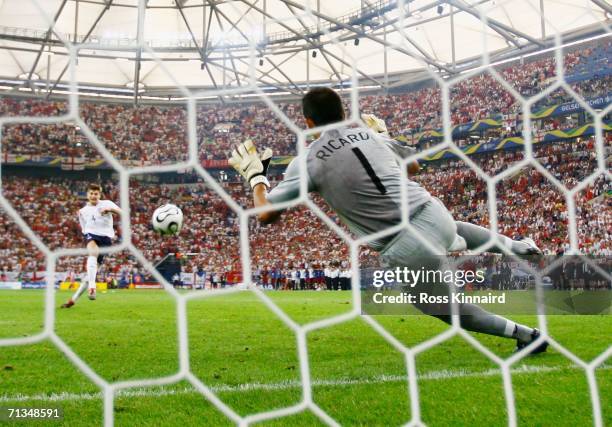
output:
[[[574,49],[564,55],[566,75],[582,72],[585,61],[599,61],[610,67],[609,41],[589,48]],[[605,60],[601,60],[601,58]],[[499,69],[502,77],[524,96],[533,96],[554,80],[555,61],[551,56],[535,58]],[[572,83],[572,88],[588,98],[606,93],[611,77],[606,73]],[[490,74],[459,81],[451,88],[453,124],[501,115],[506,135],[519,134],[520,105]],[[542,103],[561,103],[571,99],[563,90],[552,92]],[[544,105],[544,104],[542,104]],[[278,104],[290,119],[300,123],[297,103]],[[394,135],[416,134],[441,127],[440,91],[424,88],[388,96],[360,98],[363,112],[382,117]],[[63,102],[0,98],[0,116],[57,116],[66,112]],[[186,114],[183,108],[123,104],[82,103],[81,117],[116,158],[132,164],[171,163],[184,160]],[[533,124],[534,136],[545,130],[574,124],[574,118],[541,120]],[[577,124],[577,123],[576,123]],[[245,138],[270,146],[276,154],[293,154],[295,135],[268,108],[261,105],[199,106],[197,130],[202,160],[225,159],[230,147]],[[605,134],[607,156],[612,135]],[[537,138],[536,138],[537,140]],[[74,124],[10,124],[2,129],[3,155],[100,157]],[[537,144],[538,161],[563,185],[573,188],[595,169],[592,137],[565,142]],[[490,175],[499,173],[523,158],[522,151],[493,151],[472,156]],[[272,179],[282,170],[272,170]],[[414,180],[442,199],[457,220],[489,225],[486,183],[457,159],[424,164]],[[52,249],[82,247],[76,212],[85,203],[89,181],[64,177],[25,178],[3,176],[3,194],[22,218]],[[118,201],[112,181],[102,183],[105,197]],[[250,206],[249,192],[230,172],[222,180],[225,191],[242,206]],[[580,248],[593,255],[612,255],[612,198],[610,183],[598,179],[576,196],[576,218]],[[568,249],[568,213],[563,194],[534,168],[518,171],[496,187],[499,229],[512,237],[530,236],[548,254]],[[166,202],[178,204],[185,214],[179,238],[161,238],[150,226],[153,210]],[[337,220],[319,199],[315,202]],[[167,254],[182,255],[186,271],[206,272],[211,283],[240,280],[239,225],[236,214],[202,182],[156,184],[130,182],[132,240],[154,264]],[[118,227],[119,228],[119,227]],[[45,260],[23,233],[0,212],[0,231],[10,239],[0,242],[0,272],[37,272],[45,270]],[[121,230],[118,230],[121,234]],[[343,288],[350,277],[348,248],[323,221],[304,207],[289,209],[281,225],[249,222],[249,241],[254,276],[273,287]],[[81,273],[84,257],[59,260],[57,271]],[[361,261],[375,259],[362,248]],[[107,256],[102,275],[124,277],[142,266],[129,252]],[[216,278],[216,279],[215,279]]]

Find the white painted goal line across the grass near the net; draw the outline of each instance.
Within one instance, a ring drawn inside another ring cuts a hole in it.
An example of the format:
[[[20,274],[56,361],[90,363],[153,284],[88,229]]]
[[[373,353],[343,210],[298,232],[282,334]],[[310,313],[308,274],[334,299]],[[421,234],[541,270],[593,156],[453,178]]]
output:
[[[612,368],[612,365],[603,365],[598,370],[608,370]],[[565,370],[579,370],[581,369],[575,365],[568,365],[565,367],[560,366],[529,366],[521,365],[518,368],[512,370],[512,374],[530,374],[530,373],[549,373],[559,372]],[[435,380],[446,380],[453,378],[472,378],[472,377],[495,377],[501,376],[499,369],[489,369],[486,371],[466,371],[466,370],[442,370],[442,371],[430,371],[422,375],[419,375],[419,381],[435,381]],[[344,378],[335,380],[313,380],[313,387],[345,387],[352,385],[368,385],[368,384],[385,384],[385,383],[396,383],[407,381],[405,375],[379,375],[372,378]],[[231,393],[231,392],[247,392],[255,390],[263,391],[280,391],[289,389],[299,389],[302,385],[299,381],[281,381],[277,383],[246,383],[239,385],[221,384],[211,386],[210,389],[215,393]],[[169,390],[153,390],[152,387],[147,388],[133,388],[128,390],[121,390],[117,393],[117,397],[162,397],[172,395],[184,395],[184,394],[199,394],[197,390],[193,388],[179,388]],[[29,402],[29,401],[45,401],[45,402],[64,402],[73,400],[94,400],[101,399],[102,393],[52,393],[52,394],[34,394],[34,395],[0,395],[0,403],[6,402]]]

